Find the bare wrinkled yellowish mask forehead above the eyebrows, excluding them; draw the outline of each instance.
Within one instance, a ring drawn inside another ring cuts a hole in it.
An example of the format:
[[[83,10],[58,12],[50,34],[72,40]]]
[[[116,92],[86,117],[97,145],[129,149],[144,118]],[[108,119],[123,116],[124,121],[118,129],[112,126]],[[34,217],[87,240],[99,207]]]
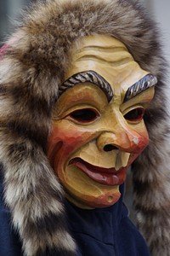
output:
[[[65,80],[76,73],[93,70],[111,84],[114,90],[119,90],[121,86],[126,91],[147,74],[122,42],[106,35],[82,38],[73,45],[71,60]]]

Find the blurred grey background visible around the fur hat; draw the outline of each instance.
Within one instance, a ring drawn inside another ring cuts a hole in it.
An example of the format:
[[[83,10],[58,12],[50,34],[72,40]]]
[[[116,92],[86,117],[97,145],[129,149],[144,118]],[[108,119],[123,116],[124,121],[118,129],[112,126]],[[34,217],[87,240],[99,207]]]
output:
[[[14,18],[20,15],[20,9],[26,7],[30,2],[30,0],[0,0],[0,46],[3,45],[5,38],[10,33],[10,27],[14,24]],[[158,26],[161,28],[161,42],[164,55],[170,66],[170,0],[139,0],[139,2],[144,4],[149,14],[157,21]],[[128,172],[126,187],[125,201],[130,211],[130,217],[133,219],[131,172]]]

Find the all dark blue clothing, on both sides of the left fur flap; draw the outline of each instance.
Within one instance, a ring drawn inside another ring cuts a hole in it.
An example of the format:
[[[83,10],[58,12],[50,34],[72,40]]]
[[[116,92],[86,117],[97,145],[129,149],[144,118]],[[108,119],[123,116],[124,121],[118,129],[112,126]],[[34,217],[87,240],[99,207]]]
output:
[[[123,186],[121,188],[123,190]],[[123,193],[123,192],[122,192]],[[112,207],[82,210],[65,202],[77,256],[149,256],[139,231],[127,218],[122,198]],[[21,256],[19,236],[10,213],[3,205],[3,178],[0,178],[0,256]],[[59,255],[54,255],[59,256]]]

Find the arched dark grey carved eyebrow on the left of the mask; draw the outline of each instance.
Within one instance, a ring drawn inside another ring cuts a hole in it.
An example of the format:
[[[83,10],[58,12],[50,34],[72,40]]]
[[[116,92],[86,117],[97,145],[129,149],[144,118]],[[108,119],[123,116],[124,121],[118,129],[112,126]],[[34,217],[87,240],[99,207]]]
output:
[[[86,82],[97,85],[101,90],[104,91],[108,102],[111,102],[111,99],[113,98],[113,90],[111,89],[111,84],[109,84],[102,76],[100,76],[99,73],[96,73],[92,70],[76,73],[71,76],[71,78],[67,79],[63,84],[59,86],[59,96],[61,96],[65,90],[70,89],[72,86]]]

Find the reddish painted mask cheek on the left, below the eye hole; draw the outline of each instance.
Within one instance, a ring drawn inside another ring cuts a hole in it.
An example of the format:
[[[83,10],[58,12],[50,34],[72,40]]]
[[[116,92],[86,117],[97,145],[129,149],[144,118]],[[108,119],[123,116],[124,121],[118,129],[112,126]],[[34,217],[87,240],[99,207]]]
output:
[[[70,155],[81,147],[91,136],[90,132],[84,132],[81,128],[75,129],[68,121],[54,123],[53,131],[48,137],[48,160],[54,171],[62,173]]]

